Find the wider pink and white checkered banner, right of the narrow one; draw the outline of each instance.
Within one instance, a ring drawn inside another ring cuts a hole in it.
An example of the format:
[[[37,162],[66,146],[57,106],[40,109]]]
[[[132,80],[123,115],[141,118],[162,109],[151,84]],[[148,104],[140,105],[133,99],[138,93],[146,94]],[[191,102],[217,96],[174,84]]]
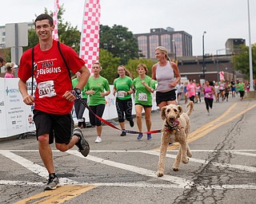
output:
[[[80,57],[86,62],[90,72],[99,55],[99,23],[101,6],[99,0],[85,1],[82,33],[80,41]]]

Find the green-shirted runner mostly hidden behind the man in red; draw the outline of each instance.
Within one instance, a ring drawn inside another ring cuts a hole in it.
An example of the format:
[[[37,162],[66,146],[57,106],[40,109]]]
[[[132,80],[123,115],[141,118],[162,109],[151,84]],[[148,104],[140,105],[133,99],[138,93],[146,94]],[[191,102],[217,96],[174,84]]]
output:
[[[78,80],[81,77],[81,73],[77,72],[75,73],[76,77],[72,80],[72,87],[75,88],[78,84]],[[85,93],[85,88],[82,88],[81,90],[81,98],[85,102],[87,102],[87,95]],[[82,104],[80,100],[74,100],[74,112],[78,119],[78,128],[86,128],[86,119],[83,116],[83,113],[85,112],[86,107]]]

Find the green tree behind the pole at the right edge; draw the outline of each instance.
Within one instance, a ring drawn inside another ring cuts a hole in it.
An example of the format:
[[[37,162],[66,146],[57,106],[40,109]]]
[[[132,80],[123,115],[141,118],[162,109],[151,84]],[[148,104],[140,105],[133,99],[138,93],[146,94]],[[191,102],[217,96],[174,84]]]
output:
[[[250,64],[249,64],[249,47],[241,45],[241,52],[234,56],[234,69],[240,71],[246,75],[246,79],[250,76]],[[252,45],[252,56],[253,56],[253,78],[256,77],[256,44]]]

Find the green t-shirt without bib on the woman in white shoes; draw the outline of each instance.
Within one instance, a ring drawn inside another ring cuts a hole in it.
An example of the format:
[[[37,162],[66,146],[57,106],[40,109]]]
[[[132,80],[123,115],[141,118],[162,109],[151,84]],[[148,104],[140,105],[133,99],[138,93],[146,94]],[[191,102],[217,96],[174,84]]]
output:
[[[86,84],[86,91],[94,90],[94,95],[90,95],[89,105],[106,104],[105,96],[101,92],[110,91],[110,84],[106,78],[100,76],[95,79],[91,76]]]

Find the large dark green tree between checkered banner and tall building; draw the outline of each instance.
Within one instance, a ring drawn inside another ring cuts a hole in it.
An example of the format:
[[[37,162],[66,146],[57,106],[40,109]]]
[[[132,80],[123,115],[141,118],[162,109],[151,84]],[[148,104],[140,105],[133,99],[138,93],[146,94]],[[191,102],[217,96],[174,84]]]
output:
[[[122,65],[126,65],[130,59],[138,59],[138,41],[126,27],[101,25],[99,46],[114,57],[120,57]]]

